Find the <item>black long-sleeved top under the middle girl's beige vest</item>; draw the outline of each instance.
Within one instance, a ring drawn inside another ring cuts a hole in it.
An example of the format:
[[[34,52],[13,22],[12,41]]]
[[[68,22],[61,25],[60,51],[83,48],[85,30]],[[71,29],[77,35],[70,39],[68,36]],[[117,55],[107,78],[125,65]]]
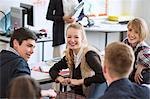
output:
[[[90,86],[92,83],[103,83],[105,82],[105,78],[102,73],[102,67],[101,67],[101,60],[98,56],[98,54],[94,51],[88,51],[85,55],[86,62],[90,66],[90,68],[95,72],[95,75],[92,77],[88,77],[84,79],[84,85]],[[62,69],[67,69],[67,61],[65,60],[65,57],[58,63],[54,64],[54,66],[50,69],[49,73],[53,80],[55,80],[58,76],[60,76],[58,73]],[[73,79],[82,79],[81,76],[81,70],[80,70],[80,64],[77,68],[73,67],[73,73],[72,73]],[[75,86],[71,87],[75,93],[77,94],[83,94],[82,92],[82,86]]]

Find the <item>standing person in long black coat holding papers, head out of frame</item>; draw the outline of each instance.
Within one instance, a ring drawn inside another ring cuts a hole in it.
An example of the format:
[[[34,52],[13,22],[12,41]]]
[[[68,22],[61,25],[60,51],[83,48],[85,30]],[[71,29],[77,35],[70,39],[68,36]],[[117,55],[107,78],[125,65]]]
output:
[[[72,14],[77,4],[78,0],[50,0],[46,19],[53,21],[53,58],[63,57],[65,49],[65,24],[75,21]]]

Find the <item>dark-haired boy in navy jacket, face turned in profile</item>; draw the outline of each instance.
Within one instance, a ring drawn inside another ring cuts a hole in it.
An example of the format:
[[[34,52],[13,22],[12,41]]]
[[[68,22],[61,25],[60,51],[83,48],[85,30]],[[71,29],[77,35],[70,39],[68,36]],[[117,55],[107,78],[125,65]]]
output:
[[[10,48],[0,52],[0,98],[6,98],[8,83],[20,75],[30,75],[28,59],[34,52],[37,37],[27,28],[14,30]]]

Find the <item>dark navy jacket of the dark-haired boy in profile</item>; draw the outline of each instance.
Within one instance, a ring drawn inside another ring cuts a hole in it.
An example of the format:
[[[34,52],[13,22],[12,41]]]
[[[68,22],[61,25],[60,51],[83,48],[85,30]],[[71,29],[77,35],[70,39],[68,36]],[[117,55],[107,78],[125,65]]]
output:
[[[0,52],[0,98],[6,97],[9,82],[20,75],[30,75],[27,61],[13,52]]]

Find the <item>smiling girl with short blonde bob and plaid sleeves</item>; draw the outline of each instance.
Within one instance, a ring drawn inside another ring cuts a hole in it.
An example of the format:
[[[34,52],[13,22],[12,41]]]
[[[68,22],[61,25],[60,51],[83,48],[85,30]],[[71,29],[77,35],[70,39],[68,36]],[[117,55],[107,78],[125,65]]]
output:
[[[128,23],[127,38],[124,43],[134,50],[134,70],[130,80],[138,84],[150,84],[150,46],[145,43],[149,33],[144,19],[135,18]]]

